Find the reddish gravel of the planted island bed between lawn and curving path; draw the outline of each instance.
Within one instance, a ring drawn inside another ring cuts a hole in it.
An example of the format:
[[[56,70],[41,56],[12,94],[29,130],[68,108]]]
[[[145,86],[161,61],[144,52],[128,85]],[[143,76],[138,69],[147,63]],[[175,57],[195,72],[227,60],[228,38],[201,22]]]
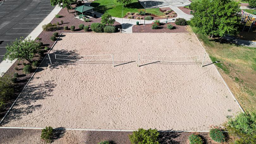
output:
[[[161,12],[166,12],[168,10],[171,10],[171,8],[160,8],[159,9]],[[147,12],[147,10],[146,10]],[[178,15],[172,11],[171,13],[168,13],[168,19],[171,19],[171,18],[176,18]],[[153,17],[153,20],[154,19],[166,19],[167,15],[162,15],[162,16],[157,16],[157,15],[154,15],[154,14],[150,14],[151,17]],[[136,15],[135,13],[132,14],[133,16],[133,19],[137,19],[137,17],[141,17],[142,19],[144,19],[144,15]],[[148,16],[148,15],[146,15]],[[128,15],[125,15],[124,17],[125,19],[128,19]]]

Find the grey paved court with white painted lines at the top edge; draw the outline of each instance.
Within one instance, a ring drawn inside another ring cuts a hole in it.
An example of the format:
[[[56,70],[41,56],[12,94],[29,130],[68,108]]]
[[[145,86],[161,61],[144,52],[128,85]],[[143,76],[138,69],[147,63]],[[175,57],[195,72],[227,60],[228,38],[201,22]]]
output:
[[[155,7],[164,7],[164,6],[171,6],[171,7],[182,7],[189,5],[191,2],[189,0],[139,0],[141,5],[146,8],[155,8]]]

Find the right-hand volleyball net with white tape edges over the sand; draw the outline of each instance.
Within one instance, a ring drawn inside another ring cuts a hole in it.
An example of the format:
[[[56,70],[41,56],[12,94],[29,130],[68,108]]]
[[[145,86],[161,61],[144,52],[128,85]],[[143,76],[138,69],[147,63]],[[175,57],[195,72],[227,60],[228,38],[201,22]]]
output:
[[[140,60],[149,61],[160,61],[160,62],[186,62],[186,61],[198,61],[200,59],[199,55],[195,56],[181,56],[181,57],[162,57],[162,56],[151,56],[151,55],[141,55]]]

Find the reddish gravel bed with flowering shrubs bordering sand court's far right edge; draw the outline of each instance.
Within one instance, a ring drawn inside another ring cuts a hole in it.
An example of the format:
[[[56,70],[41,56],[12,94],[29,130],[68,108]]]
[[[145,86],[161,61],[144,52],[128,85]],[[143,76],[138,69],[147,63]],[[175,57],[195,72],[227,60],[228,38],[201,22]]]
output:
[[[162,24],[160,25],[160,29],[152,30],[151,26],[152,24],[147,24],[147,25],[134,25],[132,27],[132,32],[136,33],[189,33],[187,30],[188,26],[182,26],[182,25],[176,25],[175,23],[168,23],[172,24],[176,27],[176,29],[169,30],[167,28],[167,24]]]

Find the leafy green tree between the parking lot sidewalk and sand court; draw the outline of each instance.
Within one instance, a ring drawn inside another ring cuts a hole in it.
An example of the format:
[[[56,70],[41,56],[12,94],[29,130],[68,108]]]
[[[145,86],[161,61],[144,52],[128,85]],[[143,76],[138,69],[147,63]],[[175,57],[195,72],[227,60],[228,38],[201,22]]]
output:
[[[35,56],[35,53],[41,48],[40,44],[31,40],[30,38],[11,42],[11,45],[6,46],[6,53],[4,55],[4,60],[15,60],[17,59],[26,59],[28,62],[32,62]]]

